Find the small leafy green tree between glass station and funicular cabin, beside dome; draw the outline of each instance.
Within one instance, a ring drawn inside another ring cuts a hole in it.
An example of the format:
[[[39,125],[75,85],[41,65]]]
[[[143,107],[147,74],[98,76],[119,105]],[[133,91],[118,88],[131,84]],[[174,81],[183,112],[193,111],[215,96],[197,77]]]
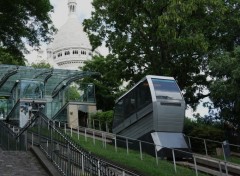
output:
[[[92,61],[87,61],[82,68],[83,71],[98,72],[91,78],[85,78],[85,82],[92,82],[95,85],[97,109],[103,111],[112,110],[114,101],[119,96],[120,85],[122,80],[119,77],[119,66],[116,60],[109,55],[107,58],[103,56],[94,56]]]

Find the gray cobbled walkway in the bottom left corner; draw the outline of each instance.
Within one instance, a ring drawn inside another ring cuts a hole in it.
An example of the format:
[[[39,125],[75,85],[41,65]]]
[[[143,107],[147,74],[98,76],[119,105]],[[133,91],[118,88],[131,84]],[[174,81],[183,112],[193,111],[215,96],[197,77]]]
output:
[[[48,173],[30,151],[3,151],[0,148],[0,176],[48,176]]]

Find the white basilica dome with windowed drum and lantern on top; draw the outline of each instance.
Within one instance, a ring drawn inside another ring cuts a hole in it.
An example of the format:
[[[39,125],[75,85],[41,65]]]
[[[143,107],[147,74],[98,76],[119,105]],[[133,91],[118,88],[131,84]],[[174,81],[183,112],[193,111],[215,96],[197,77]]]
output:
[[[56,68],[79,70],[84,62],[99,54],[92,46],[77,18],[76,0],[68,0],[68,19],[47,48],[47,59]]]

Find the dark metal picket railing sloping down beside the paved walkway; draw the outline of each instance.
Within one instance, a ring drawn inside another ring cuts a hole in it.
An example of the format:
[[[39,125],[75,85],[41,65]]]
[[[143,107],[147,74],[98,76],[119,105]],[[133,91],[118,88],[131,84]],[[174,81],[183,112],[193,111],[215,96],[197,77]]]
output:
[[[41,113],[40,113],[41,114]],[[111,164],[82,149],[64,131],[43,114],[29,129],[28,139],[37,144],[62,175],[67,176],[136,176],[138,174]]]

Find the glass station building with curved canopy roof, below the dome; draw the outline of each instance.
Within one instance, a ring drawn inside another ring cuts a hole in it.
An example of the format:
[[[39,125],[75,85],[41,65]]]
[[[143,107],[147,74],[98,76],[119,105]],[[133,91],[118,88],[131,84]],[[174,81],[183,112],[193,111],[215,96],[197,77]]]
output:
[[[76,83],[96,73],[0,65],[0,120],[24,127],[34,111],[69,127],[87,126],[96,111],[93,84]]]

